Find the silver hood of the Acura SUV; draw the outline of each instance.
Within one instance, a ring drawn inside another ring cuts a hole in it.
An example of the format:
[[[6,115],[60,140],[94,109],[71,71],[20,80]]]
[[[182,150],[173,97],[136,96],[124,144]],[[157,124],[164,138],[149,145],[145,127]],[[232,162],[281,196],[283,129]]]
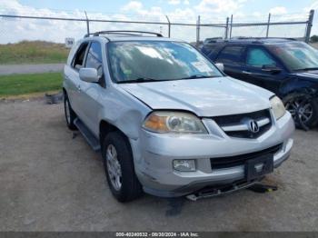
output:
[[[154,110],[185,110],[198,116],[263,110],[270,107],[273,95],[231,77],[118,85]]]

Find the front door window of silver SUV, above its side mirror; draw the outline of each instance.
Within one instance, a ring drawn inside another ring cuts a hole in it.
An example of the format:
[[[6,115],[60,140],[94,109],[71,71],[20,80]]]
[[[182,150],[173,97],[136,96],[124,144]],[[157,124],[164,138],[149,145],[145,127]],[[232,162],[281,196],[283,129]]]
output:
[[[102,49],[99,43],[93,42],[89,47],[85,67],[95,68],[99,76],[103,75]]]

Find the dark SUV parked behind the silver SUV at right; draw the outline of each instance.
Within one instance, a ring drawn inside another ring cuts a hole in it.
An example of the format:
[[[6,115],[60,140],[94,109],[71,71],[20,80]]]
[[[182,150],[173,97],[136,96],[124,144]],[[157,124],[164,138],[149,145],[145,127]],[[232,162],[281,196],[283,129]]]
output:
[[[318,123],[318,51],[285,38],[235,38],[208,41],[202,52],[224,73],[256,84],[283,99],[296,124]]]

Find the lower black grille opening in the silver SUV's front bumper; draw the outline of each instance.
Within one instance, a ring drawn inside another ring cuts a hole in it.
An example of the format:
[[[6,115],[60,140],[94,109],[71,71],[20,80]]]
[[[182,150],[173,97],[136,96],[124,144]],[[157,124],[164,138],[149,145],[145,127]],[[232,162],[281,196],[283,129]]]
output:
[[[228,157],[211,158],[212,169],[224,169],[245,164],[246,161],[255,159],[265,154],[276,154],[282,149],[283,144],[277,144],[263,151],[253,152],[249,154],[240,154]]]

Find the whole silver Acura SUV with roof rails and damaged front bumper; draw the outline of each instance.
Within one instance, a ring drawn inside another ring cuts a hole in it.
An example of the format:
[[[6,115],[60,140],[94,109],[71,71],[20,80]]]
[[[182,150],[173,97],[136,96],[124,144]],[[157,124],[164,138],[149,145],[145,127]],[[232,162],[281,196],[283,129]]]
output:
[[[233,192],[288,158],[294,124],[277,96],[150,34],[86,35],[64,70],[67,126],[101,150],[118,201]]]

